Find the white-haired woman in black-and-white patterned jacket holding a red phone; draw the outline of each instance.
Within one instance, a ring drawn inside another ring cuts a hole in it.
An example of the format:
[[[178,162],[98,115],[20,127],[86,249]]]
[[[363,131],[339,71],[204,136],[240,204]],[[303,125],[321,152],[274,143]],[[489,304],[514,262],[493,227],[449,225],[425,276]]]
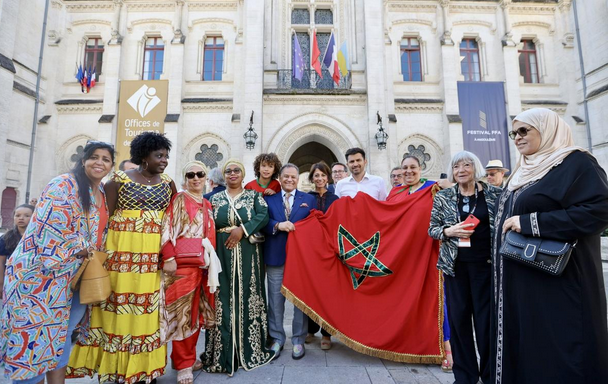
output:
[[[484,167],[471,152],[453,156],[448,169],[453,187],[433,203],[429,235],[442,241],[438,269],[444,273],[455,383],[489,383],[491,237],[495,200],[501,190],[481,180]],[[480,367],[476,359],[472,317]]]

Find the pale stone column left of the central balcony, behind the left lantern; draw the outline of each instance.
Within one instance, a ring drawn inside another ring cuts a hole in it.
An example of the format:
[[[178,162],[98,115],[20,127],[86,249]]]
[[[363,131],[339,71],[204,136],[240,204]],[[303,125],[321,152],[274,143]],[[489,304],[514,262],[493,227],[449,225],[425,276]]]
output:
[[[235,88],[235,93],[243,93],[243,109],[237,132],[232,136],[232,152],[243,159],[247,173],[252,176],[251,168],[256,155],[264,151],[265,139],[264,115],[262,111],[262,92],[264,79],[264,0],[248,0],[243,2],[243,40],[241,73],[235,76],[243,78],[243,89]],[[254,111],[254,129],[258,134],[256,147],[253,150],[245,148],[243,134],[249,126],[249,117]],[[226,123],[227,126],[229,122]],[[282,159],[287,162],[287,159]],[[250,179],[250,178],[248,178]]]

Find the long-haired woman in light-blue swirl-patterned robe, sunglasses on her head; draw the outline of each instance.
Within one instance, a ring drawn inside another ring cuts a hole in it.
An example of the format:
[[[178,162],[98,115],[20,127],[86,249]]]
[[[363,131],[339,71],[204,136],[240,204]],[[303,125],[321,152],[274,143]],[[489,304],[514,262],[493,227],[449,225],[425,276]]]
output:
[[[102,249],[108,208],[102,179],[114,148],[89,142],[72,171],[46,186],[6,266],[0,364],[17,384],[65,382],[72,332],[87,310],[70,281]],[[87,318],[86,318],[87,319]]]

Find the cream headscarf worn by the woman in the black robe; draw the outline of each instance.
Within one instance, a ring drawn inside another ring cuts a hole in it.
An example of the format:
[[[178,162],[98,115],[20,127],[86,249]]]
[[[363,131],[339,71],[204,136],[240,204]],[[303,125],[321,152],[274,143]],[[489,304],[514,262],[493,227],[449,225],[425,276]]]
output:
[[[541,135],[537,152],[520,155],[508,182],[508,190],[518,190],[529,182],[543,178],[573,151],[587,152],[573,144],[571,127],[558,114],[547,108],[531,108],[518,114],[514,121],[533,126]]]

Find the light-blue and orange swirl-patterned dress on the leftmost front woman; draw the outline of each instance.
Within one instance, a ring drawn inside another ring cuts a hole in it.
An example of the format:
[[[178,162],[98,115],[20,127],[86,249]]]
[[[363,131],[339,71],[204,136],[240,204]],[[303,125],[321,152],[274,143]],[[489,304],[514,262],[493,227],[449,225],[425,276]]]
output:
[[[96,245],[99,234],[95,198],[87,223],[78,194],[72,174],[53,179],[7,262],[0,365],[12,380],[56,369],[63,353],[72,305],[69,284],[82,262],[75,254]]]

